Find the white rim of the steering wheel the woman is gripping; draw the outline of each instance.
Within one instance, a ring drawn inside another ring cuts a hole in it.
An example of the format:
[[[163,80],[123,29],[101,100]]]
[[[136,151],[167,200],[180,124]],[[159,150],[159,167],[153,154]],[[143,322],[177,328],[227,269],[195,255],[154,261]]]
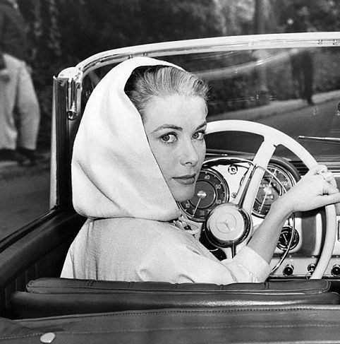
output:
[[[269,162],[269,158],[272,157],[274,150],[277,146],[282,145],[289,148],[302,162],[310,169],[312,166],[317,164],[315,158],[310,155],[308,150],[303,148],[297,141],[283,132],[274,129],[265,124],[256,123],[253,121],[241,121],[234,119],[224,119],[221,121],[212,121],[207,124],[207,134],[218,133],[221,131],[243,131],[251,134],[257,134],[264,138],[262,148],[264,151],[272,150],[270,155],[267,155],[263,162]],[[261,149],[261,148],[260,148]],[[259,150],[260,151],[260,150]],[[259,152],[258,151],[258,152]],[[258,153],[257,152],[257,153]],[[268,158],[269,156],[269,158]],[[257,155],[258,157],[258,155]],[[256,155],[255,155],[256,158]],[[261,158],[261,157],[260,157]],[[267,164],[266,164],[267,165]],[[267,166],[266,166],[267,167]],[[260,169],[259,169],[260,170]],[[255,191],[253,191],[255,199]],[[250,197],[251,198],[251,197]],[[336,239],[336,213],[333,205],[325,206],[326,210],[326,235],[324,238],[324,245],[320,259],[317,263],[315,271],[312,273],[312,279],[320,279],[327,269],[332,253],[334,249],[334,243]],[[247,210],[247,209],[246,209]],[[248,210],[249,211],[249,210]]]

